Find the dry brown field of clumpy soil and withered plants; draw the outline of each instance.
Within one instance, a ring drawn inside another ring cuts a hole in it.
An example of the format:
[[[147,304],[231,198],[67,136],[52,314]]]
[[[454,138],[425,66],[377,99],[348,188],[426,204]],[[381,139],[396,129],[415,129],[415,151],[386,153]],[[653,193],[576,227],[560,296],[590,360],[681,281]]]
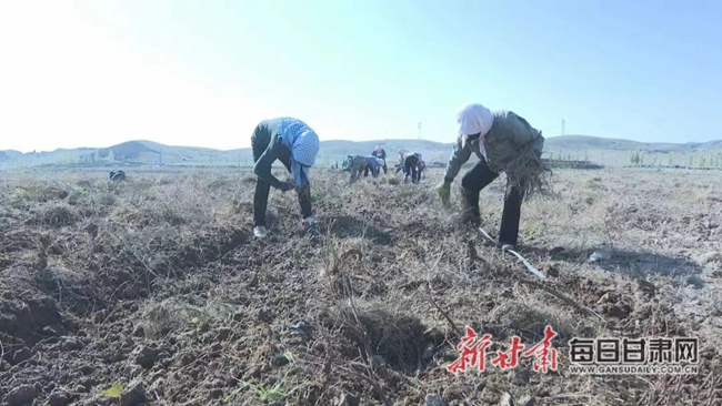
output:
[[[127,173],[0,179],[0,404],[722,405],[718,173],[555,171],[522,207],[543,283],[458,222],[455,190],[439,203],[440,170],[317,170],[321,224],[272,191],[264,241],[248,172]],[[482,192],[492,235],[503,186]],[[556,371],[491,365],[546,325]],[[465,326],[493,344],[454,375]],[[572,337],[665,336],[699,337],[699,374],[569,369]]]

